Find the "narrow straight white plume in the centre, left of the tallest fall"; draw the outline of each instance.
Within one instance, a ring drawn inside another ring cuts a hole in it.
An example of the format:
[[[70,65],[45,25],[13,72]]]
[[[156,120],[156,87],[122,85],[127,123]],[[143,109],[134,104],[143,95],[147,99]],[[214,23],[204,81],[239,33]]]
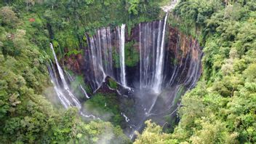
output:
[[[127,80],[125,78],[125,62],[124,62],[124,44],[125,44],[125,25],[121,25],[120,32],[120,44],[119,44],[119,55],[120,55],[120,66],[121,66],[121,84],[127,87]]]

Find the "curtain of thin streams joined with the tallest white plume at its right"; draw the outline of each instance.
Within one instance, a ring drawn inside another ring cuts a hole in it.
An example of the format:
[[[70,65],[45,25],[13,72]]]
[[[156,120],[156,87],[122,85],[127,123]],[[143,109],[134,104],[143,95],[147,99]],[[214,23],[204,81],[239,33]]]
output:
[[[140,89],[161,91],[164,65],[164,39],[168,14],[162,20],[139,24]]]

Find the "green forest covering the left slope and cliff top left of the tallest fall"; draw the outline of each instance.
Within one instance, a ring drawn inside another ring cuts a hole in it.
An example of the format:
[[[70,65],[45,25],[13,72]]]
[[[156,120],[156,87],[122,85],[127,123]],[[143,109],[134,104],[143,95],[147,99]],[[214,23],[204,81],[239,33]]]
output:
[[[0,143],[129,143],[119,127],[86,123],[76,108],[64,111],[56,102],[46,66],[49,42],[60,59],[77,55],[84,53],[85,33],[121,23],[131,28],[159,12],[152,1],[0,1]]]

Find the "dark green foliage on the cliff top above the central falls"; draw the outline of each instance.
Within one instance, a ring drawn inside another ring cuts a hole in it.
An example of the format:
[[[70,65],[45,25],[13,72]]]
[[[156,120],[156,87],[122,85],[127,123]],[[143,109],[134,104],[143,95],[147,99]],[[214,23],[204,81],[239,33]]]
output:
[[[92,36],[95,29],[103,26],[117,26],[127,23],[132,27],[136,23],[159,18],[159,7],[151,1],[6,1],[19,11],[20,17],[26,17],[35,26],[43,26],[49,32],[51,41],[55,41],[61,57],[68,52],[80,52],[86,45],[85,33]],[[28,12],[23,12],[27,11]],[[15,24],[16,15],[3,7],[1,17],[4,23]],[[40,31],[40,30],[39,30]],[[74,51],[76,50],[76,51]]]

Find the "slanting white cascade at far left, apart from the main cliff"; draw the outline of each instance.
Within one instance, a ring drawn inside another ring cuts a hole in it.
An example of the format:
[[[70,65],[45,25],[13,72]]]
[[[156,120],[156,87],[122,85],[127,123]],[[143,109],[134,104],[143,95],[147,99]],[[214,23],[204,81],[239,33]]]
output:
[[[69,97],[65,97],[65,95],[61,94],[63,92],[61,92],[61,90],[59,88],[57,88],[57,95],[62,95],[61,97],[63,97],[63,100],[65,101],[66,104],[63,103],[63,105],[65,106],[65,108],[67,106],[71,106],[71,104],[73,103],[74,106],[76,106],[77,108],[81,108],[81,104],[79,103],[79,100],[77,100],[77,98],[73,95],[73,93],[71,92],[71,90],[69,89],[68,87],[68,83],[67,81],[65,81],[65,76],[64,76],[64,73],[63,73],[63,69],[60,67],[58,61],[57,61],[57,57],[56,57],[56,54],[55,54],[55,49],[53,49],[53,46],[52,44],[50,44],[50,47],[52,49],[52,54],[54,55],[55,57],[55,63],[57,65],[57,71],[58,71],[58,74],[60,76],[60,79],[61,79],[61,82],[63,84],[63,87],[65,89],[65,92],[68,93],[68,96]],[[56,78],[55,78],[56,79]],[[57,81],[57,80],[56,80]],[[65,97],[65,98],[64,98]]]

